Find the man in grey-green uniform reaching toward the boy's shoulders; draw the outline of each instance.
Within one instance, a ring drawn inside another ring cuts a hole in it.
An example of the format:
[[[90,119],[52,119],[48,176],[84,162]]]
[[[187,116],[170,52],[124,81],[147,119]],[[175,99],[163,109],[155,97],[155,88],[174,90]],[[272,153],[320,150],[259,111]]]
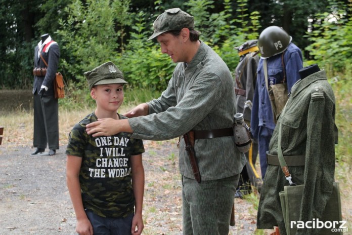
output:
[[[161,52],[177,63],[168,87],[158,99],[127,112],[130,119],[98,121],[87,125],[86,131],[93,136],[125,131],[149,140],[184,135],[179,152],[183,233],[228,235],[236,185],[246,162],[234,141],[231,72],[199,41],[193,16],[169,9],[153,25],[149,39],[156,38]]]

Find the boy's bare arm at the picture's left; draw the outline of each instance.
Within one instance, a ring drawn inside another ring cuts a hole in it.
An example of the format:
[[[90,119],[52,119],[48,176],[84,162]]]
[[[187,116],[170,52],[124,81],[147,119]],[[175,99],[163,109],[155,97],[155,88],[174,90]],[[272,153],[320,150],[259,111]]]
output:
[[[70,193],[72,205],[77,218],[76,232],[78,234],[93,235],[93,227],[87,218],[81,196],[81,188],[79,184],[79,170],[82,158],[73,155],[67,155],[66,162],[66,182]]]

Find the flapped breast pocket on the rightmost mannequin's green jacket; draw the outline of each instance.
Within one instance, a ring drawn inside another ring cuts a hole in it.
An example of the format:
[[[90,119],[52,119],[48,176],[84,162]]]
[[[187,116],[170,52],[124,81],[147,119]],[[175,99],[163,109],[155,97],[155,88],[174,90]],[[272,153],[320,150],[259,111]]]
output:
[[[284,113],[279,118],[281,123],[281,146],[287,149],[291,149],[297,145],[299,138],[301,138],[301,126],[302,117],[293,113]]]

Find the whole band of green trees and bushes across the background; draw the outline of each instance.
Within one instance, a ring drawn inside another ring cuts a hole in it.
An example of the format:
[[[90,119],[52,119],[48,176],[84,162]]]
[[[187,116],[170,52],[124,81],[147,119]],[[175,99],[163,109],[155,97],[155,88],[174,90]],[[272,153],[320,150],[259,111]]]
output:
[[[55,32],[52,36],[61,48],[59,71],[64,73],[70,96],[79,96],[77,90],[86,89],[83,72],[108,60],[124,72],[131,88],[161,91],[175,64],[160,52],[155,41],[146,40],[155,18],[174,7],[194,16],[201,40],[224,59],[231,71],[239,59],[234,47],[258,38],[262,27],[276,24],[289,25],[295,43],[312,43],[304,46],[313,58],[307,64],[319,63],[333,74],[351,69],[352,58],[352,23],[347,18],[351,2],[346,5],[348,0],[339,1],[345,4],[333,0],[33,0],[30,4],[0,0],[0,19],[4,22],[0,26],[0,86],[30,89],[38,36]],[[317,14],[327,2],[325,13]],[[311,25],[306,19],[312,21]],[[32,27],[24,23],[28,20]],[[312,31],[302,37],[306,28]]]

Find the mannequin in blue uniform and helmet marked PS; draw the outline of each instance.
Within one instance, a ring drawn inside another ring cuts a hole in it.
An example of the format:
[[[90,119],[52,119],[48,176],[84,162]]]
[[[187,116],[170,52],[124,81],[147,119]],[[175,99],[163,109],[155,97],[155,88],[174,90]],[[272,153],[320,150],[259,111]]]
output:
[[[264,29],[258,39],[260,60],[257,69],[257,83],[253,97],[250,127],[258,141],[261,176],[267,171],[267,151],[275,129],[272,106],[269,99],[269,85],[287,83],[288,93],[299,80],[299,69],[303,67],[300,49],[292,42],[292,37],[278,26]],[[265,78],[263,62],[267,62],[268,81]]]

